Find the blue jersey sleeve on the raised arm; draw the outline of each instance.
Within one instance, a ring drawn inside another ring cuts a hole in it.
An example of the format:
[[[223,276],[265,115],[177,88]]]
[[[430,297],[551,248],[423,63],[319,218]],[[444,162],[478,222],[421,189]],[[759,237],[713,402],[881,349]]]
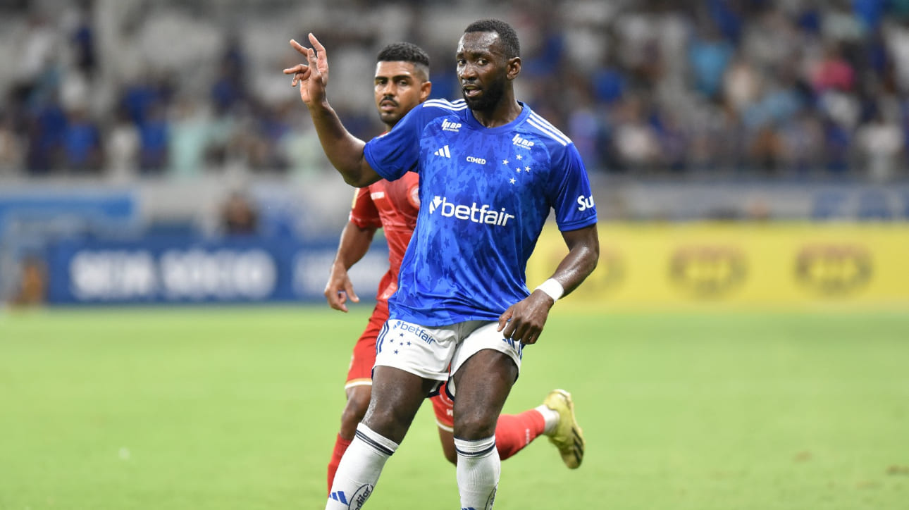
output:
[[[420,133],[424,127],[422,112],[423,105],[417,105],[391,131],[366,142],[366,163],[376,174],[394,181],[416,170],[420,156]]]

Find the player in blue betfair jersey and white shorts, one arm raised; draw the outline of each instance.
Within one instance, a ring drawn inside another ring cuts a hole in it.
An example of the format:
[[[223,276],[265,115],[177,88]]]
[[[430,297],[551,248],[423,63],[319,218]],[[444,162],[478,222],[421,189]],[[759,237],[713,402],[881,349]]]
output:
[[[577,149],[516,100],[521,71],[514,29],[499,20],[467,26],[455,59],[463,101],[429,100],[368,143],[350,135],[325,96],[325,48],[291,41],[305,68],[286,69],[309,109],[325,154],[345,182],[420,175],[413,238],[376,343],[373,392],[335,475],[326,510],[360,508],[404,439],[425,395],[445,381],[454,395],[461,507],[491,508],[499,480],[495,422],[516,380],[525,345],[550,308],[594,270],[596,208]],[[568,246],[554,274],[524,282],[550,210]],[[574,419],[559,445],[583,455]]]

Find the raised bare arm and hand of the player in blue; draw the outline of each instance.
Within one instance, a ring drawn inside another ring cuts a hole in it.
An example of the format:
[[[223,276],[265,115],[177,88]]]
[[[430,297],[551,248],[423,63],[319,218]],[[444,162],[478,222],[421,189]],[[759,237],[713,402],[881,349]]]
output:
[[[381,177],[366,162],[363,147],[365,142],[351,135],[335,109],[328,104],[325,88],[328,85],[328,57],[325,46],[315,35],[309,35],[312,48],[305,48],[291,39],[290,45],[306,57],[307,64],[298,64],[284,70],[285,75],[294,75],[291,86],[300,85],[300,99],[309,109],[315,132],[328,160],[344,177],[347,184],[356,187],[371,185]]]

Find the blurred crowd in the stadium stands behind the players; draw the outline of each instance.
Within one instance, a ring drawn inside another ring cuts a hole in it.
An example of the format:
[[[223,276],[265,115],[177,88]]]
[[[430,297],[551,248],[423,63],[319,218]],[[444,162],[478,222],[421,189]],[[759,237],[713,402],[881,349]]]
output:
[[[6,0],[0,178],[325,172],[288,38],[363,76],[332,98],[368,137],[376,51],[423,45],[457,98],[454,43],[485,16],[514,23],[519,96],[592,173],[906,175],[909,0]]]

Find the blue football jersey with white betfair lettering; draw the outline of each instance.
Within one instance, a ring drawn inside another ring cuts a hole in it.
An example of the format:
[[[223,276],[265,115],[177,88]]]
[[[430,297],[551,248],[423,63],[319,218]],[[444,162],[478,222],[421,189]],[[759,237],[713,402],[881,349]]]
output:
[[[562,231],[596,223],[581,156],[529,106],[487,128],[464,100],[418,105],[370,140],[366,161],[388,180],[420,175],[420,212],[391,317],[418,325],[496,320],[529,294],[527,259],[546,217]]]

